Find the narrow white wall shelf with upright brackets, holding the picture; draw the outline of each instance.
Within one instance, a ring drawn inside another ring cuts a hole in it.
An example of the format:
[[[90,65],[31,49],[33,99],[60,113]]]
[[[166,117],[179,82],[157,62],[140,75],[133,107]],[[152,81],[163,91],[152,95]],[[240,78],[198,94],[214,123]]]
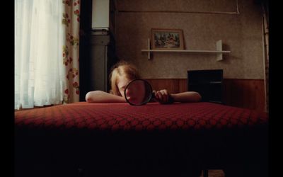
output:
[[[150,40],[147,40],[148,49],[141,50],[141,52],[147,52],[147,57],[150,59],[151,52],[163,52],[163,53],[202,53],[202,54],[216,54],[216,60],[221,61],[224,53],[230,53],[231,51],[222,50],[222,40],[216,41],[216,50],[151,50]]]

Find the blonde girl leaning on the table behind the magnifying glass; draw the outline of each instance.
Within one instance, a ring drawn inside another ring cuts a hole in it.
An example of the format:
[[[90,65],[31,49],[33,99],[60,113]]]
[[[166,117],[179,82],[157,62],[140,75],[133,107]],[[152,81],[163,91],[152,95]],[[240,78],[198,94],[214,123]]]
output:
[[[111,91],[90,91],[86,93],[88,103],[123,103],[126,102],[124,90],[127,84],[133,79],[140,79],[137,68],[127,62],[118,62],[112,68],[110,73]],[[183,93],[170,94],[166,89],[154,91],[155,100],[158,103],[166,104],[175,102],[198,102],[201,100],[199,93],[195,91],[186,91]],[[173,99],[169,99],[169,97]]]

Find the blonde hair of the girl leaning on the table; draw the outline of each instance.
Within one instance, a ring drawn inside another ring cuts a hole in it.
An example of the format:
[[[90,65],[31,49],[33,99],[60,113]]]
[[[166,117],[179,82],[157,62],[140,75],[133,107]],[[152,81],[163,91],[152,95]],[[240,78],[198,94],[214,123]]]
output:
[[[124,76],[129,80],[140,79],[137,68],[134,67],[133,64],[129,64],[128,62],[125,61],[117,62],[117,64],[115,64],[112,67],[112,71],[110,73],[110,85],[111,85],[110,93],[117,96],[121,96],[121,93],[117,87],[118,76]]]

